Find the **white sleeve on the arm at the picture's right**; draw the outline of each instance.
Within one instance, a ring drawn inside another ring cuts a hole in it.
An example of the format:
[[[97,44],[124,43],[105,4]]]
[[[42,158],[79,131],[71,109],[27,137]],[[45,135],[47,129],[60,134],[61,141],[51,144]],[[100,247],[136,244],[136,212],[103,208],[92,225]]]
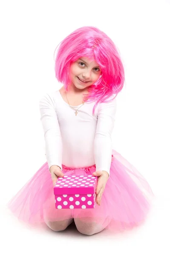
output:
[[[115,123],[116,99],[99,103],[98,122],[94,140],[96,171],[110,172],[112,161],[112,131]]]

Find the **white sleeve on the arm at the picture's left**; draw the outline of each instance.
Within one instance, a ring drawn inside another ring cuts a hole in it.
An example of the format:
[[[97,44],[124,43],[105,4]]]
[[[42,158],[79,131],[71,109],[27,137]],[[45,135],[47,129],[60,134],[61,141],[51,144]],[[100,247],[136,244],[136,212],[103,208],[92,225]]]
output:
[[[39,101],[39,109],[40,121],[44,131],[46,160],[49,169],[52,165],[57,165],[62,170],[63,145],[54,99],[46,93]]]

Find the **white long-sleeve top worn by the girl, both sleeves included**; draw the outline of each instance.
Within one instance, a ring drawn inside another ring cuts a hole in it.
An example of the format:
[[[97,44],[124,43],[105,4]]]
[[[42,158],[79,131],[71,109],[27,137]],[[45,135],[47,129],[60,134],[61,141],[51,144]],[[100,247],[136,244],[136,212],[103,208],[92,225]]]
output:
[[[113,97],[112,97],[113,98]],[[110,98],[111,99],[111,98]],[[68,167],[96,165],[96,170],[109,174],[112,160],[112,130],[115,122],[116,99],[74,106],[67,104],[59,90],[46,93],[39,101],[43,126],[46,160],[49,168],[62,164]]]

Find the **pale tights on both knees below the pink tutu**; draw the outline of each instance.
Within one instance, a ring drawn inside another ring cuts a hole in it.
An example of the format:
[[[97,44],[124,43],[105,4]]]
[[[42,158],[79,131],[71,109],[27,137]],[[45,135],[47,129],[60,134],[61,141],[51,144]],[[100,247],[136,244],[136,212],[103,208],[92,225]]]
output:
[[[50,229],[54,231],[62,231],[65,230],[73,221],[75,222],[77,230],[80,233],[88,236],[101,232],[108,225],[108,223],[106,223],[105,227],[103,227],[103,225],[96,224],[94,218],[91,218],[90,221],[89,218],[88,221],[87,218],[69,218],[64,221],[45,220],[45,223]]]

